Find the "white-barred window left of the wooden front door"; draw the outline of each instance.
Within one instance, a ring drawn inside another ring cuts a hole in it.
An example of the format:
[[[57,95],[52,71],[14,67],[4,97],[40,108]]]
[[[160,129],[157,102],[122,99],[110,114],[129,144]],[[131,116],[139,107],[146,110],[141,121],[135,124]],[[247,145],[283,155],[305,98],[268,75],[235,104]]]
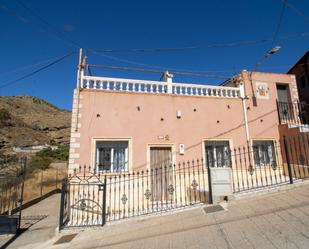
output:
[[[99,171],[128,171],[128,141],[97,141],[96,165]]]

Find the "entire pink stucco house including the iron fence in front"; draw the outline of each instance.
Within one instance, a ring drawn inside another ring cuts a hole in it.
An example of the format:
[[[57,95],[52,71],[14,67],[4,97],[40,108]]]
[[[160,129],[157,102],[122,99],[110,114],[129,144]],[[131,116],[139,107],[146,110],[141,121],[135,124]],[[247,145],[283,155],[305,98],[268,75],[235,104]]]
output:
[[[96,77],[81,61],[61,224],[104,225],[309,176],[294,75],[242,71],[211,86],[168,72]]]

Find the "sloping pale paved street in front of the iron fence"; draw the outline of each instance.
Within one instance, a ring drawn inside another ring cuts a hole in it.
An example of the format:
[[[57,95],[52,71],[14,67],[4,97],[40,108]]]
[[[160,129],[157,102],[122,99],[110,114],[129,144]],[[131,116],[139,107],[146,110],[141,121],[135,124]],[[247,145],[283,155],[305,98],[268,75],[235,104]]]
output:
[[[102,228],[66,230],[36,248],[309,248],[308,184],[242,197],[227,209],[205,214],[196,207]],[[54,245],[68,234],[77,235],[71,242]]]

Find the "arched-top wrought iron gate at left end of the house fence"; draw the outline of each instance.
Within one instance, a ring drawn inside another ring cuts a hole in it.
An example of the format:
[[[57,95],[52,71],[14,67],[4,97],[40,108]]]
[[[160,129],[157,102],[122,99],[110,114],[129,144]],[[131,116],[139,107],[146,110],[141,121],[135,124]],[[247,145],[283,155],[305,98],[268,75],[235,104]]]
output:
[[[78,226],[103,226],[106,213],[106,182],[100,174],[83,169],[63,180],[60,229]]]

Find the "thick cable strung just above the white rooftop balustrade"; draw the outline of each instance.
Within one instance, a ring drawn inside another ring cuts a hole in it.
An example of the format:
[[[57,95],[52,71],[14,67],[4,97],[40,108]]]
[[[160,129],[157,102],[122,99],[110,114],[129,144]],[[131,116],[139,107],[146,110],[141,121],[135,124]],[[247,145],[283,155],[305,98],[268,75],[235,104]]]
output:
[[[164,73],[166,70],[157,70],[157,69],[148,69],[148,68],[136,68],[136,67],[124,67],[124,66],[110,66],[110,65],[94,65],[88,64],[89,67],[94,68],[105,68],[105,69],[118,69],[118,70],[128,70],[128,71],[141,71],[141,72],[151,72],[151,73]],[[189,73],[189,72],[180,72],[180,71],[170,71],[173,74],[179,75],[188,75],[188,76],[201,76],[208,78],[220,78],[228,79],[229,77],[222,75],[211,75],[211,74],[201,74],[201,73]]]

